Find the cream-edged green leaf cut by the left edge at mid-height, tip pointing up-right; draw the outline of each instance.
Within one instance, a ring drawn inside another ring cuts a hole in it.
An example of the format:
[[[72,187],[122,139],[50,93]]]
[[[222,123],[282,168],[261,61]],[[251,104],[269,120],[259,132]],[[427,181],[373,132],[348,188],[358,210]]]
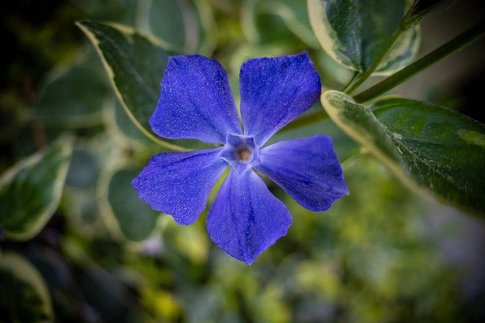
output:
[[[61,200],[71,160],[72,140],[61,138],[20,160],[0,178],[0,226],[16,240],[37,234]]]

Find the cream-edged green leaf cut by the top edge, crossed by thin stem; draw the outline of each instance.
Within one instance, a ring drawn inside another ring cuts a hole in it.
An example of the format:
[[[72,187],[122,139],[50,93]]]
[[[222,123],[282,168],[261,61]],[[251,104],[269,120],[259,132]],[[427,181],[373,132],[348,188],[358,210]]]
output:
[[[404,0],[307,0],[320,45],[336,62],[365,72],[398,30]],[[419,46],[417,29],[404,32],[376,70],[390,74],[411,62]]]

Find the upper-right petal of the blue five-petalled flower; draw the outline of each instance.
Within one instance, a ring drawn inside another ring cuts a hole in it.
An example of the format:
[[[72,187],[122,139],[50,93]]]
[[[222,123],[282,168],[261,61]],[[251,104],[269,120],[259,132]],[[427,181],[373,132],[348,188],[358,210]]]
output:
[[[320,98],[320,76],[307,52],[249,60],[240,74],[244,135],[261,147]]]

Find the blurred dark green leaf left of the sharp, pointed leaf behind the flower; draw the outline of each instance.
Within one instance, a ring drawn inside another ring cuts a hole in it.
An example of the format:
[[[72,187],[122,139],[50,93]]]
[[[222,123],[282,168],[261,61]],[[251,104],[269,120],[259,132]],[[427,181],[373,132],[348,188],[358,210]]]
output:
[[[47,84],[35,107],[35,117],[48,127],[100,124],[101,107],[109,91],[97,72],[74,66]]]

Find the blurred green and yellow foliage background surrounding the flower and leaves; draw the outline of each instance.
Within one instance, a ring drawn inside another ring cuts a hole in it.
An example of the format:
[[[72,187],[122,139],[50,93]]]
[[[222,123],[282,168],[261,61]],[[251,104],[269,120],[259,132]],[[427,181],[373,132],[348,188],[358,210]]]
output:
[[[424,21],[419,56],[484,13],[481,1],[460,0]],[[359,147],[329,120],[271,142],[331,136],[350,195],[314,213],[267,182],[293,224],[253,265],[213,245],[206,212],[181,227],[151,210],[130,182],[162,148],[117,101],[78,20],[128,25],[180,52],[217,59],[236,101],[248,58],[307,50],[324,89],[339,90],[351,77],[324,54],[303,0],[2,1],[0,173],[66,133],[75,138],[62,200],[47,226],[28,241],[0,239],[1,253],[22,255],[38,271],[56,322],[484,322],[484,223],[410,191],[372,157],[356,154]],[[484,44],[393,92],[484,122],[476,103],[485,85]],[[19,311],[38,306],[5,290],[3,304],[13,298]],[[0,322],[12,322],[2,305]]]

